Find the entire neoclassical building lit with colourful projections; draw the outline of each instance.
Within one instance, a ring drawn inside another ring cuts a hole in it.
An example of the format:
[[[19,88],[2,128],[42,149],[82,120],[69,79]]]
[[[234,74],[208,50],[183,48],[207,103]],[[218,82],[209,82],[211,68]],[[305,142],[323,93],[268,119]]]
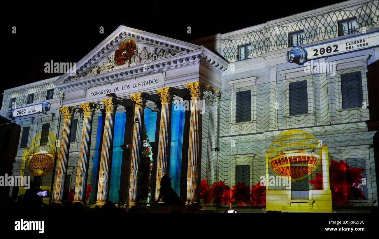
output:
[[[45,203],[150,205],[167,175],[205,208],[377,206],[378,16],[351,0],[192,43],[121,25],[72,72],[5,90],[12,174]]]

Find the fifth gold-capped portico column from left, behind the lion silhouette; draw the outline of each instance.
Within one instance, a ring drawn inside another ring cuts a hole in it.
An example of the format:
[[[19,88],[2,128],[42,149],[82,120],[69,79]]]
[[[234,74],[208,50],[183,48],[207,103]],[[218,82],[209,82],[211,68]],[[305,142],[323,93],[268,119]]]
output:
[[[170,172],[172,88],[166,87],[157,90],[157,92],[161,99],[162,110],[158,141],[155,200],[157,200],[159,197],[161,177],[164,175],[169,175]]]

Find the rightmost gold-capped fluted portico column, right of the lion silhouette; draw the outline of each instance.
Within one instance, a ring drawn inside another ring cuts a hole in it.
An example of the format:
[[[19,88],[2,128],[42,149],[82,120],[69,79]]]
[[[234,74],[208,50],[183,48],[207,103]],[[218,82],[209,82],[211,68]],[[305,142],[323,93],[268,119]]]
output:
[[[186,84],[191,95],[191,118],[189,125],[188,145],[188,172],[187,172],[187,200],[200,201],[200,140],[201,118],[200,101],[203,99],[203,91],[209,87],[199,81]]]

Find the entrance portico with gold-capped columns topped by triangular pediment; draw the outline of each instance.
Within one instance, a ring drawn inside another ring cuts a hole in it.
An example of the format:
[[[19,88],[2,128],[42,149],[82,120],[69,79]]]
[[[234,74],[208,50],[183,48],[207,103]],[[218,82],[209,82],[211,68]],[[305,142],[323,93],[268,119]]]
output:
[[[136,53],[127,64],[116,66],[114,51],[125,40],[136,43]],[[83,194],[85,194],[83,188],[88,178],[86,177],[88,174],[87,155],[92,140],[89,135],[94,129],[91,125],[93,114],[103,115],[104,122],[103,126],[97,127],[102,131],[101,150],[99,149],[101,155],[97,166],[99,170],[95,170],[97,175],[92,175],[92,178],[96,177],[97,185],[96,191],[92,193],[96,195],[96,205],[103,205],[108,201],[110,185],[114,183],[110,182],[111,174],[113,174],[112,148],[118,146],[114,145],[114,134],[119,130],[115,129],[115,115],[116,111],[125,111],[126,115],[132,116],[131,120],[129,118],[125,121],[127,126],[123,128],[124,138],[126,135],[131,135],[130,140],[124,140],[124,145],[120,145],[123,149],[128,148],[129,151],[128,154],[122,155],[124,166],[121,168],[121,174],[126,175],[122,178],[127,178],[124,180],[127,181],[125,185],[128,186],[120,187],[119,194],[124,195],[123,200],[129,201],[129,205],[139,203],[141,155],[146,143],[143,138],[143,130],[146,130],[144,129],[145,106],[160,109],[160,114],[157,114],[159,129],[157,127],[155,135],[150,135],[150,138],[152,136],[157,138],[157,153],[152,157],[149,183],[150,190],[154,189],[150,191],[150,203],[157,199],[160,178],[163,175],[170,175],[170,170],[175,170],[170,168],[171,129],[174,127],[171,122],[172,101],[174,98],[190,97],[192,104],[190,119],[188,125],[184,126],[189,129],[189,137],[183,139],[183,142],[188,140],[188,146],[186,146],[188,153],[184,152],[180,158],[182,168],[184,166],[187,168],[186,172],[182,171],[186,177],[182,177],[182,182],[180,182],[180,188],[186,188],[186,195],[180,196],[184,200],[199,202],[201,168],[199,105],[204,92],[221,90],[220,78],[227,65],[228,62],[225,59],[205,47],[120,26],[77,63],[75,76],[66,73],[57,79],[56,87],[64,92],[63,108],[76,109],[77,113],[84,117],[75,201],[83,202]],[[106,95],[110,93],[124,99],[130,98],[132,102],[138,104],[109,98]],[[69,127],[69,124],[64,124],[62,132],[68,132]],[[127,141],[130,142],[130,146],[125,144]],[[62,157],[67,157],[67,151],[68,148],[61,148],[60,154],[64,155]],[[58,158],[60,158],[59,155]],[[62,167],[67,168],[67,165],[62,165]],[[64,171],[57,170],[56,172],[57,178],[64,177]],[[120,182],[120,185],[124,185],[123,183],[125,182]],[[122,192],[123,190],[128,192]],[[55,189],[53,193],[56,194]],[[120,201],[119,204],[123,205],[124,202]]]

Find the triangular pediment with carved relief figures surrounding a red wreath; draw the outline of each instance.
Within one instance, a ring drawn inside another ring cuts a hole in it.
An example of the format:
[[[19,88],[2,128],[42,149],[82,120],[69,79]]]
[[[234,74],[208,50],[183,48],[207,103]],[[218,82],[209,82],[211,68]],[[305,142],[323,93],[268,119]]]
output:
[[[115,51],[126,40],[135,42],[136,53],[133,54],[129,62],[118,66],[114,58]],[[55,84],[60,85],[64,82],[77,81],[82,78],[100,76],[102,74],[106,75],[122,68],[135,67],[137,65],[144,67],[144,65],[153,64],[154,61],[189,53],[199,48],[201,48],[199,45],[121,25],[103,40],[102,43],[76,63],[75,73],[68,72],[63,74],[55,81]]]

